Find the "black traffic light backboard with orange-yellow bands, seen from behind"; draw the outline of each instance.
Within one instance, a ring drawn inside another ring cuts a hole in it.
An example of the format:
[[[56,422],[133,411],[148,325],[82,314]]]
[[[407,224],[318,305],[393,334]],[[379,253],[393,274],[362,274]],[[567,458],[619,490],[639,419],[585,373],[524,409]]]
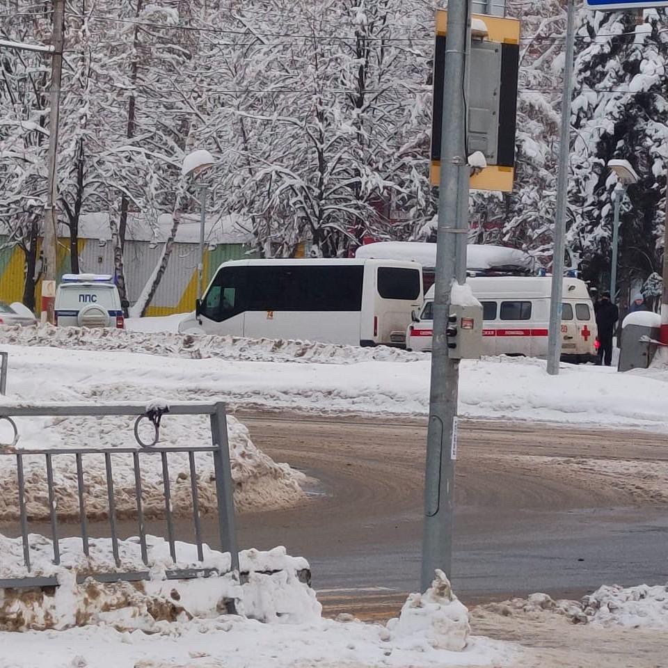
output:
[[[434,114],[431,128],[431,184],[438,186],[443,119],[447,11],[436,12]],[[466,74],[468,155],[484,154],[487,167],[473,174],[472,190],[509,192],[515,173],[517,73],[520,22],[495,16],[471,17],[471,48]]]

